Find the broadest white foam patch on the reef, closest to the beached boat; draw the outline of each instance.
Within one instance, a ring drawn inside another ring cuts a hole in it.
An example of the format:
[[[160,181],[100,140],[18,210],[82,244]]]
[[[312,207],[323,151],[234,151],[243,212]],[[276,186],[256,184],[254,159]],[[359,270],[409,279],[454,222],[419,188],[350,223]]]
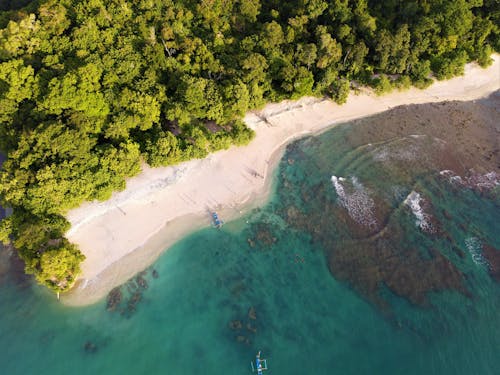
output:
[[[337,192],[338,202],[347,210],[349,216],[358,224],[375,227],[377,225],[374,214],[375,202],[358,178],[351,177],[352,187],[342,185],[346,183],[343,177],[332,176],[331,180]]]

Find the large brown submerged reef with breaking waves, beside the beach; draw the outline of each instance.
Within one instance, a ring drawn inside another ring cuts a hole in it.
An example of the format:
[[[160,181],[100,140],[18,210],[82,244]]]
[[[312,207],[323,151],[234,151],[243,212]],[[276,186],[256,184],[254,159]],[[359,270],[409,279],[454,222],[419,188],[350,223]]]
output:
[[[498,93],[401,106],[295,142],[280,165],[277,213],[321,244],[336,279],[383,310],[385,288],[418,306],[432,292],[471,297],[456,238],[470,223],[441,203],[464,189],[494,197],[498,108]],[[496,280],[499,254],[484,247]]]

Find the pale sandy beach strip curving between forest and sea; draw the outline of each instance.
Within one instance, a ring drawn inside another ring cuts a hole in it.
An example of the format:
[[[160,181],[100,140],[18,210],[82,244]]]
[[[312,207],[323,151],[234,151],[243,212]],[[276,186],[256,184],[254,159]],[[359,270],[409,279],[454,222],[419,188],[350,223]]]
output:
[[[173,167],[144,166],[110,200],[85,203],[68,213],[72,227],[67,237],[80,246],[86,260],[63,302],[85,305],[103,298],[180,238],[209,226],[212,210],[228,221],[265,202],[272,167],[291,140],[399,105],[484,97],[500,89],[500,55],[494,60],[488,69],[470,64],[464,76],[436,82],[426,90],[382,97],[363,90],[351,94],[342,106],[313,98],[270,104],[245,117],[256,131],[248,146]]]

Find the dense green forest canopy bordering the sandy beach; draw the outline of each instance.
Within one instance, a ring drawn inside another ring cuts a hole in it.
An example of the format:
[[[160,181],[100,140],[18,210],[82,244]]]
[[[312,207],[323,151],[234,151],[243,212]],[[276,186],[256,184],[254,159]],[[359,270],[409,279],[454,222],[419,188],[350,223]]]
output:
[[[5,2],[7,3],[7,2]],[[0,12],[0,224],[60,291],[83,255],[65,212],[143,161],[244,144],[268,101],[350,83],[425,87],[500,50],[498,0],[49,0]],[[376,78],[374,78],[376,77]]]

